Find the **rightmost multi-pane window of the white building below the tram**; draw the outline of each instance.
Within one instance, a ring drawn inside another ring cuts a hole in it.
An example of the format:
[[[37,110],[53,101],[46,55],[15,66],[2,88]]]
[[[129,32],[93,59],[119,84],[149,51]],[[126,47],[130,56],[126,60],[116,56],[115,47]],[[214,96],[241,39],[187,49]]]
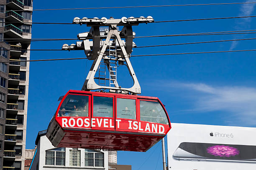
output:
[[[104,167],[104,153],[85,149],[84,165],[90,167]]]

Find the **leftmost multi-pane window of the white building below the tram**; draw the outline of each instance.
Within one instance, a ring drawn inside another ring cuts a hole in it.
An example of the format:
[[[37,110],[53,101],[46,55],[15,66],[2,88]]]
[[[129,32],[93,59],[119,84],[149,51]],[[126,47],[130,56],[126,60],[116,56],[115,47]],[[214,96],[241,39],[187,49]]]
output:
[[[45,165],[65,166],[65,148],[55,148],[45,151]]]

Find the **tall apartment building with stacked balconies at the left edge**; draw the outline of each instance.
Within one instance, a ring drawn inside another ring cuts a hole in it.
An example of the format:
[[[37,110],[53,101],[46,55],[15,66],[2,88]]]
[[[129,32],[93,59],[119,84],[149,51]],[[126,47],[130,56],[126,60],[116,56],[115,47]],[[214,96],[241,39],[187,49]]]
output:
[[[24,170],[33,0],[0,0],[0,170]]]

